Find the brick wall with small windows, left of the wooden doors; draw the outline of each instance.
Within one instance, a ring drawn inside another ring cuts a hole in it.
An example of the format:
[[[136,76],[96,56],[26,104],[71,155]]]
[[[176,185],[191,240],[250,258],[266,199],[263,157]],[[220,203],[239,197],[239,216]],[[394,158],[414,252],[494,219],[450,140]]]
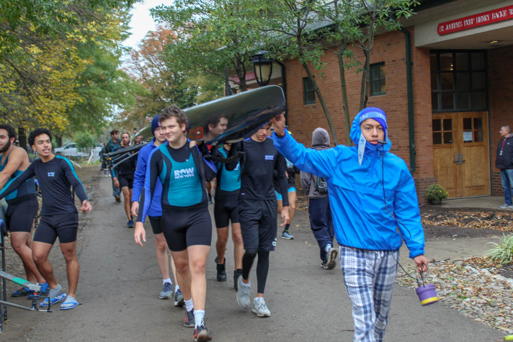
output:
[[[413,43],[413,29],[410,29]],[[410,165],[408,106],[406,84],[405,39],[401,32],[390,32],[376,37],[371,52],[370,63],[385,62],[386,94],[370,96],[368,107],[380,107],[387,114],[389,139],[392,143],[391,152],[397,154]],[[354,55],[364,61],[360,49],[353,49]],[[413,61],[413,112],[415,116],[415,147],[416,171],[413,177],[418,186],[417,193],[420,203],[426,203],[425,188],[436,183],[433,177],[433,152],[431,136],[431,90],[426,80],[430,79],[429,50],[412,48]],[[326,50],[322,58],[326,68],[312,72],[321,89],[331,119],[333,120],[339,144],[346,143],[346,128],[342,107],[342,91],[337,55]],[[297,60],[285,62],[287,72],[288,125],[295,139],[305,146],[311,145],[311,133],[317,127],[329,132],[325,114],[316,96],[312,105],[303,104],[303,77],[306,71]],[[323,74],[321,74],[323,73]],[[361,73],[356,68],[346,70],[346,84],[349,99],[350,123],[358,113],[360,103]],[[331,143],[333,139],[330,133]]]

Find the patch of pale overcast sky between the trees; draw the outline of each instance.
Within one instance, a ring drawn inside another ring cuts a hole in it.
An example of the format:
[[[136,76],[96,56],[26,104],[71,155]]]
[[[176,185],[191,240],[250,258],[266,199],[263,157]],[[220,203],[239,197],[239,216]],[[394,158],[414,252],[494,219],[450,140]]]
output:
[[[123,42],[123,45],[131,48],[137,48],[137,44],[144,38],[146,32],[155,29],[155,23],[150,15],[150,8],[159,5],[170,5],[172,0],[145,0],[143,3],[137,3],[132,10],[132,21],[130,32],[132,35]]]

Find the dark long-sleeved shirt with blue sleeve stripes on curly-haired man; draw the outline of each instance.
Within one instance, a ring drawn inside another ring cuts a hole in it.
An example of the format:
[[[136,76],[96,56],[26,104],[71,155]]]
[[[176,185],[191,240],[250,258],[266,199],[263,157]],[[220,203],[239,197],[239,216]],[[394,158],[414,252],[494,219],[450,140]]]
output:
[[[0,198],[11,193],[33,176],[37,177],[43,194],[41,215],[76,213],[71,187],[81,202],[87,199],[86,189],[78,179],[71,162],[60,155],[56,155],[46,163],[39,158],[34,160],[27,170],[6,184],[0,191]]]

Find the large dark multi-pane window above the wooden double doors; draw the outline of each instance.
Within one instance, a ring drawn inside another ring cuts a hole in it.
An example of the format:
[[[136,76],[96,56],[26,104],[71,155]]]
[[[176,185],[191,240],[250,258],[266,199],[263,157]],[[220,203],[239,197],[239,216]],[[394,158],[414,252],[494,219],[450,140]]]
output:
[[[487,109],[484,51],[431,51],[433,112]]]

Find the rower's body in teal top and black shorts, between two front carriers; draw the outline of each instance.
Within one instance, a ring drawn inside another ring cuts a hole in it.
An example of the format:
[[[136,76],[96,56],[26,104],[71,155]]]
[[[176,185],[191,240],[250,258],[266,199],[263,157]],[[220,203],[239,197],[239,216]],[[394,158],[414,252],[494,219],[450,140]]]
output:
[[[231,144],[224,144],[212,150],[212,155],[226,158],[231,149]],[[239,190],[241,188],[241,168],[238,163],[231,171],[226,169],[223,163],[217,163],[214,203],[214,220],[218,232],[218,241],[215,248],[218,255],[215,257],[218,271],[218,281],[226,281],[226,243],[228,242],[229,224],[231,221],[231,238],[233,240],[233,259],[235,270],[233,271],[233,287],[237,290],[237,279],[242,275],[242,256],[244,255],[244,243],[242,240],[241,224],[239,223]]]

